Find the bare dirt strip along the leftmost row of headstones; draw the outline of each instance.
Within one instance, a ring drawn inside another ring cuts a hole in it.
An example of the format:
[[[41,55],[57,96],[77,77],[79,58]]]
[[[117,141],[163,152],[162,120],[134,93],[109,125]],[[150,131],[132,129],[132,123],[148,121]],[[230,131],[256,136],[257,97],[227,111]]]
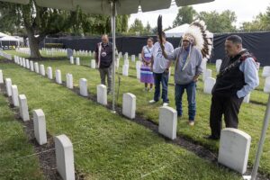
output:
[[[12,99],[6,95],[6,88],[4,84],[0,84],[0,92],[2,92],[2,95],[4,95],[4,97],[7,99],[10,109],[14,112],[14,119],[22,123],[23,130],[27,135],[27,139],[35,150],[35,154],[31,154],[26,157],[19,157],[18,159],[23,160],[23,158],[38,156],[40,162],[40,169],[42,170],[45,178],[49,180],[62,180],[61,176],[58,174],[56,167],[56,153],[53,137],[49,134],[48,131],[46,131],[48,141],[46,144],[40,145],[35,139],[32,117],[30,118],[30,121],[22,121],[19,109],[14,107],[14,105],[12,104]],[[29,115],[31,116],[31,113]],[[78,173],[78,170],[76,169],[76,180],[83,179],[84,175],[80,175],[80,173]]]

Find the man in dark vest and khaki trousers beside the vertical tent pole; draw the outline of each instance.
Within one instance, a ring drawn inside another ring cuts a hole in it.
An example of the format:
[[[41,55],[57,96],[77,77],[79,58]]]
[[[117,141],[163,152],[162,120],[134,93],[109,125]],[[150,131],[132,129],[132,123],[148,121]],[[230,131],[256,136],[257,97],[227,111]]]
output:
[[[95,48],[95,62],[97,64],[101,84],[108,82],[108,94],[112,94],[112,43],[109,42],[107,34],[103,34],[102,42],[97,43]]]

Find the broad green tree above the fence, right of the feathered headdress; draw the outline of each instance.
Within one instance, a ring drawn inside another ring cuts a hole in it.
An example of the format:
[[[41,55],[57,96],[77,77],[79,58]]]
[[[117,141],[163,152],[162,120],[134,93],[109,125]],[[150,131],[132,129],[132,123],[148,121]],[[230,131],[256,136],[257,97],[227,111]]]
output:
[[[205,22],[207,29],[211,32],[233,32],[237,31],[233,23],[236,23],[237,16],[234,12],[226,10],[222,13],[216,11],[207,13],[201,12],[197,15],[197,19]]]

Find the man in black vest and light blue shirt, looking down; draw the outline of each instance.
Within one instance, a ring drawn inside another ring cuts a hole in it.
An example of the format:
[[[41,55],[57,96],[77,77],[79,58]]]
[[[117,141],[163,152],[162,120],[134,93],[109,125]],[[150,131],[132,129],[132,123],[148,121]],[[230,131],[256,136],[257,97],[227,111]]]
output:
[[[212,89],[208,139],[220,139],[222,114],[227,128],[238,128],[238,112],[244,97],[259,85],[257,63],[242,39],[231,35],[225,41],[227,57],[223,59],[220,74]]]

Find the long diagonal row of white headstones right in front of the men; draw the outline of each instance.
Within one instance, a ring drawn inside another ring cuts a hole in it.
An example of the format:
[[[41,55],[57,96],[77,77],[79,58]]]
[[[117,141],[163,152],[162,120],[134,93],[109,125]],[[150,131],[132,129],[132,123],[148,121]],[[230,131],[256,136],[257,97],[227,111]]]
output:
[[[25,61],[25,63],[23,63]],[[37,62],[30,62],[30,67],[27,67],[27,59],[15,57],[15,63],[31,69],[42,76],[45,75],[45,68],[42,65],[38,65]],[[47,76],[52,79],[51,67],[47,68]],[[1,80],[0,73],[0,80]],[[3,75],[2,75],[3,78]],[[56,70],[56,82],[62,84],[60,70]],[[7,83],[8,84],[8,83]],[[71,74],[67,74],[67,88],[73,88],[73,77]],[[87,80],[85,78],[80,79],[79,83],[80,94],[88,96]],[[107,94],[105,85],[97,85],[97,102],[103,105],[107,104]],[[134,94],[123,94],[122,102],[122,114],[130,119],[134,119],[136,115],[136,96]],[[158,131],[168,139],[176,139],[177,128],[177,112],[175,109],[167,106],[159,108],[158,119]],[[46,129],[46,128],[45,128]],[[46,131],[46,130],[45,130]],[[247,170],[247,159],[249,154],[251,137],[242,130],[227,128],[221,131],[220,136],[220,150],[218,161],[220,164],[229,166],[230,168],[244,174]],[[71,142],[70,142],[71,144]],[[73,151],[72,151],[73,153]],[[73,158],[73,155],[71,156]],[[65,157],[68,158],[68,157]],[[66,161],[65,162],[70,162]],[[73,163],[73,160],[71,161]],[[71,166],[71,165],[69,165]],[[74,166],[74,165],[72,165]],[[74,172],[63,170],[62,176],[67,175],[67,172]],[[61,173],[60,173],[61,174]],[[71,175],[72,176],[72,175]],[[64,178],[65,179],[65,178]]]

